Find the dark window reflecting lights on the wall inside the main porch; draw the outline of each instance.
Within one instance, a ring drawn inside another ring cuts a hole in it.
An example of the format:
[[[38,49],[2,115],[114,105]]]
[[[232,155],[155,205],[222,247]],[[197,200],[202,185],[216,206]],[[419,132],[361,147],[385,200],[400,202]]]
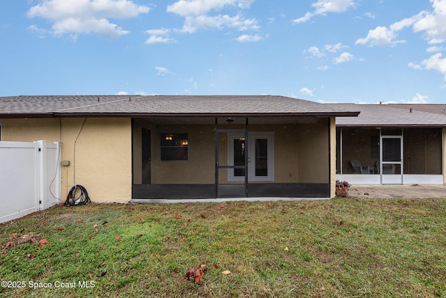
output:
[[[187,161],[187,133],[161,134],[161,161]]]

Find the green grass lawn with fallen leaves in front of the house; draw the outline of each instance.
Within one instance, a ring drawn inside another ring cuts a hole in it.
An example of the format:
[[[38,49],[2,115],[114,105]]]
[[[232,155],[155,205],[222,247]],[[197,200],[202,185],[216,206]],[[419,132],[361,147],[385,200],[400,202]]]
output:
[[[0,230],[1,297],[446,297],[446,199],[91,204]]]

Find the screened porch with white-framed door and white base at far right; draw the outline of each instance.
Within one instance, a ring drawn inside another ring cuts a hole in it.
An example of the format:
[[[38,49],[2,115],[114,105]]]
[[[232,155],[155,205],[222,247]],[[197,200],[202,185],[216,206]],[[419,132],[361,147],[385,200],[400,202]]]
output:
[[[351,184],[443,184],[441,128],[338,127],[336,175]]]

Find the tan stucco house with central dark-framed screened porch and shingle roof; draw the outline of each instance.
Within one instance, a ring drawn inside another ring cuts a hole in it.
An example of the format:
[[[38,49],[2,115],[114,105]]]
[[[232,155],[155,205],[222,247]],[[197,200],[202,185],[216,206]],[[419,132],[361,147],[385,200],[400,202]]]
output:
[[[335,118],[357,115],[284,96],[7,96],[0,140],[61,142],[62,195],[93,202],[331,198]]]

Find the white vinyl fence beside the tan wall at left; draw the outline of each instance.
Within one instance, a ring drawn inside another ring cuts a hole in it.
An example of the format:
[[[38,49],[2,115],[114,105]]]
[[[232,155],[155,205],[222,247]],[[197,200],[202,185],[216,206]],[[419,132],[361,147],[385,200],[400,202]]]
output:
[[[60,144],[0,142],[0,223],[61,202]]]

